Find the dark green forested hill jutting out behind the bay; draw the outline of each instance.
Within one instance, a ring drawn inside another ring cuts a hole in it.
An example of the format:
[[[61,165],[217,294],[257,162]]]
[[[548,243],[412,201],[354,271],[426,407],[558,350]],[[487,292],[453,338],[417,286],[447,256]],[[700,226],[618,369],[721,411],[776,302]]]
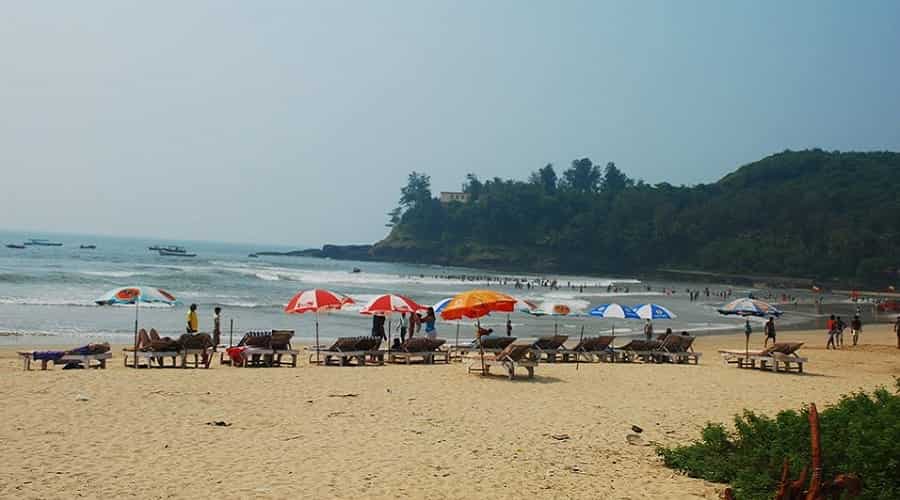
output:
[[[413,172],[374,258],[534,271],[663,267],[892,284],[900,154],[786,151],[713,184],[650,185],[585,158],[527,180],[469,174],[441,203]]]

